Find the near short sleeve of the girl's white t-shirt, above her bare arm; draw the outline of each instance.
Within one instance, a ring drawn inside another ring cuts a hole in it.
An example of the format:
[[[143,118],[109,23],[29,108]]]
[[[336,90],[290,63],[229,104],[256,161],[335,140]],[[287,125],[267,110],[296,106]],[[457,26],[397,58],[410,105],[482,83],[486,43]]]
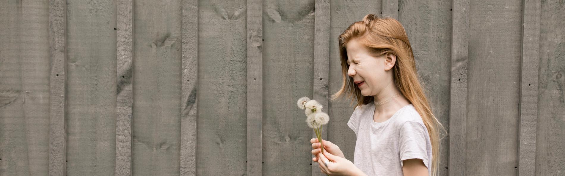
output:
[[[418,121],[406,121],[400,127],[399,153],[400,165],[407,159],[421,159],[428,167],[429,136],[425,125]]]

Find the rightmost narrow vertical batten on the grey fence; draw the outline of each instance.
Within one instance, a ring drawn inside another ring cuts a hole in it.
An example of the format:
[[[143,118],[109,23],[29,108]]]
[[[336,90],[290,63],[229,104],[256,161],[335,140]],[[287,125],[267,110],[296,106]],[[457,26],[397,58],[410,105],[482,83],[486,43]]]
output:
[[[536,174],[537,85],[540,55],[540,1],[524,0],[520,71],[518,174]]]

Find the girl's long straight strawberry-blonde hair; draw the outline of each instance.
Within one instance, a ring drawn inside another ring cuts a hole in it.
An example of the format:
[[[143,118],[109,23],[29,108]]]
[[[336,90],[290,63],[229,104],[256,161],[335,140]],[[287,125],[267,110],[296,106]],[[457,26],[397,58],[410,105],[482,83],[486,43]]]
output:
[[[440,156],[438,130],[441,127],[445,131],[445,128],[433,115],[432,108],[418,81],[414,53],[412,53],[412,47],[402,24],[391,17],[378,17],[369,14],[363,17],[362,21],[349,25],[338,39],[340,43],[343,84],[338,92],[332,94],[331,100],[334,101],[347,95],[347,99],[351,100],[350,105],[353,105],[353,102],[357,100],[357,105],[354,108],[373,102],[373,96],[363,96],[360,89],[355,86],[354,80],[347,76],[349,66],[347,65],[346,46],[351,40],[356,40],[366,47],[372,56],[379,57],[387,53],[395,55],[396,63],[393,67],[394,83],[402,95],[414,105],[428,129],[432,143],[432,175],[437,175]],[[355,99],[351,97],[355,97]]]

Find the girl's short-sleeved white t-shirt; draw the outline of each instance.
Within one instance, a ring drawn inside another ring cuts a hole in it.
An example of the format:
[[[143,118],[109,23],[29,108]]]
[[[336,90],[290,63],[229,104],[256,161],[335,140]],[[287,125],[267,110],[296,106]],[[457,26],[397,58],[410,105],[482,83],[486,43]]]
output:
[[[403,175],[402,161],[421,159],[432,172],[432,143],[414,105],[406,105],[390,119],[373,121],[373,102],[356,107],[347,122],[357,135],[353,163],[367,175]]]

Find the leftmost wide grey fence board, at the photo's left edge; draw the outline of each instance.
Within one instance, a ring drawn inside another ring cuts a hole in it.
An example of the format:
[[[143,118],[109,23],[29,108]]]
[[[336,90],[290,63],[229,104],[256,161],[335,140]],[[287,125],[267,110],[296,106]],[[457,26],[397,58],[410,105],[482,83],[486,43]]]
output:
[[[49,173],[49,3],[0,2],[0,175]]]

